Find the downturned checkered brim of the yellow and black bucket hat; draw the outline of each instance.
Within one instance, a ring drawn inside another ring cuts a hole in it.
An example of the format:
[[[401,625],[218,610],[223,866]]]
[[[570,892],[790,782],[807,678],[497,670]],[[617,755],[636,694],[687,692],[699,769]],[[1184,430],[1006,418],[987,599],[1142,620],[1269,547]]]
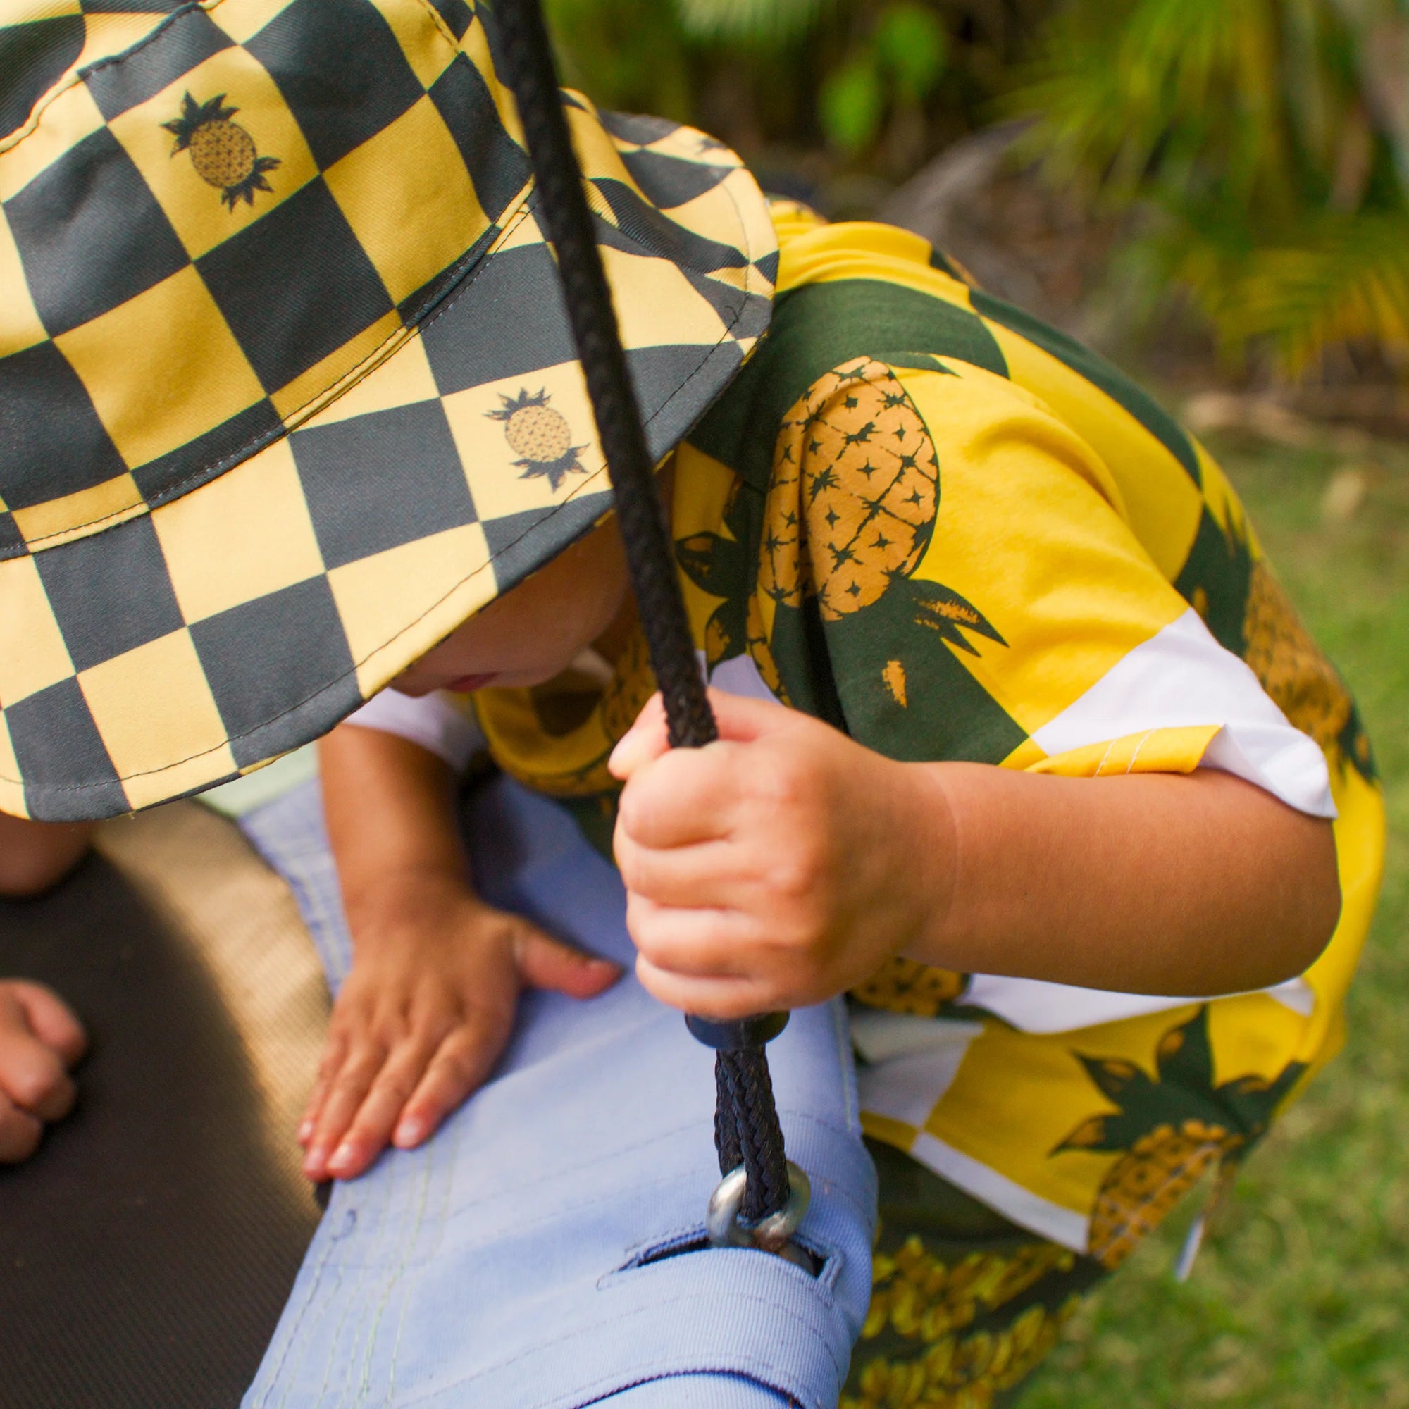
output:
[[[689,128],[569,99],[652,455],[765,331],[766,204]],[[612,504],[530,194],[379,364],[282,440],[0,562],[0,810],[149,807],[327,733]]]

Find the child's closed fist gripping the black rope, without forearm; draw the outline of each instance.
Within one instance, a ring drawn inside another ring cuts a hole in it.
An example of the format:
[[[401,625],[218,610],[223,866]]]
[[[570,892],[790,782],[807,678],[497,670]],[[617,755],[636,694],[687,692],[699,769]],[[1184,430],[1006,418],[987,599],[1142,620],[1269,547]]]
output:
[[[845,992],[947,906],[952,823],[917,771],[830,726],[717,690],[710,702],[719,743],[668,750],[657,696],[612,755],[637,976],[710,1017]]]

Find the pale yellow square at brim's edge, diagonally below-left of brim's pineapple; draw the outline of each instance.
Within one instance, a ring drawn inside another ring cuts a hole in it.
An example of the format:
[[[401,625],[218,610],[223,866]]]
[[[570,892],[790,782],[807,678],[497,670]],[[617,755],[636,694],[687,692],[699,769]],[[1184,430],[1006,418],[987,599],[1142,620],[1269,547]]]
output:
[[[420,659],[496,592],[479,524],[448,528],[334,568],[328,586],[364,697]]]

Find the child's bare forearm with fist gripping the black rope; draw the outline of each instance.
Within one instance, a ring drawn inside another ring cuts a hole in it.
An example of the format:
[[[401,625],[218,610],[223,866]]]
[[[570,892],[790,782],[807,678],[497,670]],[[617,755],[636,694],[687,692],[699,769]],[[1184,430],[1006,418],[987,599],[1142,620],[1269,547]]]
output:
[[[905,954],[1162,995],[1302,972],[1340,907],[1329,821],[1212,769],[1050,778],[898,764],[714,695],[723,743],[619,745],[616,850],[638,974],[678,1007],[819,1002]]]

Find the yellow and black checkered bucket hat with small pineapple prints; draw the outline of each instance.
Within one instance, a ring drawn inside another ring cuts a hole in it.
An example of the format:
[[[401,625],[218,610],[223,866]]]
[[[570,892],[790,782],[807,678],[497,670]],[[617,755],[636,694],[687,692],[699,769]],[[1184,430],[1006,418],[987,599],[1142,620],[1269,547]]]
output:
[[[325,733],[610,507],[492,15],[0,0],[0,810]],[[565,93],[651,451],[762,334],[717,142]]]

